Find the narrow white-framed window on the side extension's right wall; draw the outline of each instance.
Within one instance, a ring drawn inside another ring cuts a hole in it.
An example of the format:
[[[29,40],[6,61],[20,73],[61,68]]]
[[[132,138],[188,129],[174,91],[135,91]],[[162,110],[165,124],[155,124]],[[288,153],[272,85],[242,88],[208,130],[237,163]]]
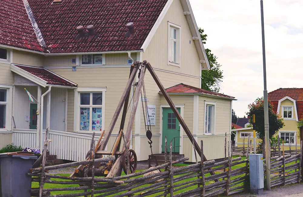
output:
[[[215,134],[216,102],[205,101],[205,134]]]

